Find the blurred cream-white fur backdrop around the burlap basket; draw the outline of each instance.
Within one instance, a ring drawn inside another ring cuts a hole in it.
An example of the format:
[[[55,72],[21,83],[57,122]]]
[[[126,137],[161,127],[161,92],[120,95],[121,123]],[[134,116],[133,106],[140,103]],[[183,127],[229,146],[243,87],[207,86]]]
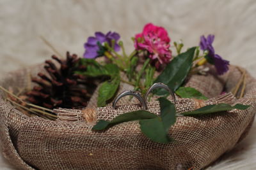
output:
[[[256,1],[0,0],[0,76],[44,62],[52,55],[44,36],[61,54],[83,55],[83,43],[95,31],[116,31],[131,51],[131,36],[152,22],[166,28],[172,41],[198,45],[215,34],[214,47],[231,64],[256,76]],[[256,169],[256,125],[232,152],[209,169]],[[0,144],[1,145],[1,144]],[[0,157],[0,169],[12,166]]]

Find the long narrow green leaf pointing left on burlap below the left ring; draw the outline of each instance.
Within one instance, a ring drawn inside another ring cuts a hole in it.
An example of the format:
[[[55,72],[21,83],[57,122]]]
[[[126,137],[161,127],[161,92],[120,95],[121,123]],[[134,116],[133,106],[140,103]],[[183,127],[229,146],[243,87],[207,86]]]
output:
[[[144,120],[144,119],[150,119],[150,118],[156,118],[157,115],[150,113],[149,111],[145,110],[138,110],[138,111],[132,111],[129,113],[124,113],[122,115],[119,115],[110,122],[106,120],[100,120],[96,125],[93,126],[93,130],[104,130],[108,129],[109,127],[117,124],[121,124],[124,122],[131,122],[134,120]]]

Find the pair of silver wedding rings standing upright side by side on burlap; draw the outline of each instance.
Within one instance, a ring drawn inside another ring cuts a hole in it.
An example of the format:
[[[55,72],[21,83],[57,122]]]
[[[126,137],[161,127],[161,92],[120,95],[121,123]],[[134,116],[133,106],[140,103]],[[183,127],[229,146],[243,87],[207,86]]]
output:
[[[134,90],[125,90],[124,92],[122,92],[121,94],[119,94],[118,96],[116,96],[116,98],[114,99],[113,101],[113,108],[116,109],[116,103],[124,96],[134,96],[136,97],[144,110],[148,110],[148,106],[147,106],[147,97],[148,97],[148,94],[150,94],[150,92],[152,92],[153,90],[155,89],[159,89],[159,88],[162,88],[162,89],[165,89],[167,90],[168,92],[170,92],[170,94],[172,95],[173,97],[173,101],[174,101],[174,104],[175,104],[175,96],[174,96],[174,93],[173,91],[167,86],[165,85],[164,83],[154,83],[154,85],[152,85],[148,90],[147,92],[145,93],[145,96],[142,97],[141,94],[139,92],[136,92]]]

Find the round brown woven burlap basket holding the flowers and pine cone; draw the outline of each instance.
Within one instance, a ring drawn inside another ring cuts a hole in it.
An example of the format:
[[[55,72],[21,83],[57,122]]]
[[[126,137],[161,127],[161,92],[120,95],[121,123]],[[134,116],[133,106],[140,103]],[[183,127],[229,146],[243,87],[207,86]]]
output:
[[[33,67],[10,73],[0,82],[8,87],[26,87],[28,74],[38,73]],[[178,117],[170,128],[175,142],[159,144],[140,131],[138,122],[116,125],[105,132],[94,132],[92,120],[111,120],[127,111],[140,110],[137,101],[122,99],[117,110],[111,106],[96,108],[97,91],[85,110],[56,110],[56,121],[27,117],[0,98],[0,132],[4,156],[18,169],[202,169],[228,152],[246,136],[255,116],[256,80],[246,73],[244,97],[236,99],[228,92],[241,79],[241,71],[230,66],[224,76],[194,75],[186,86],[194,87],[210,99],[204,104],[242,103],[252,107],[201,117]],[[120,91],[129,89],[123,84]],[[200,106],[200,103],[199,103]],[[157,101],[148,103],[149,111],[159,113]],[[195,99],[177,99],[178,112],[195,110]]]

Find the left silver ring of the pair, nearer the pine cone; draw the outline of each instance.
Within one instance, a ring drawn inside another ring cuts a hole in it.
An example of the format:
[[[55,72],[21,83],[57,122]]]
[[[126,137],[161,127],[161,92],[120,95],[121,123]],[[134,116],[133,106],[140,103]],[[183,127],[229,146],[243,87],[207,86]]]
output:
[[[144,110],[148,109],[147,103],[144,101],[143,97],[138,92],[134,92],[134,90],[125,90],[121,94],[119,94],[115,100],[113,101],[113,108],[116,109],[116,103],[124,96],[134,96],[136,97],[140,103],[142,104]]]

